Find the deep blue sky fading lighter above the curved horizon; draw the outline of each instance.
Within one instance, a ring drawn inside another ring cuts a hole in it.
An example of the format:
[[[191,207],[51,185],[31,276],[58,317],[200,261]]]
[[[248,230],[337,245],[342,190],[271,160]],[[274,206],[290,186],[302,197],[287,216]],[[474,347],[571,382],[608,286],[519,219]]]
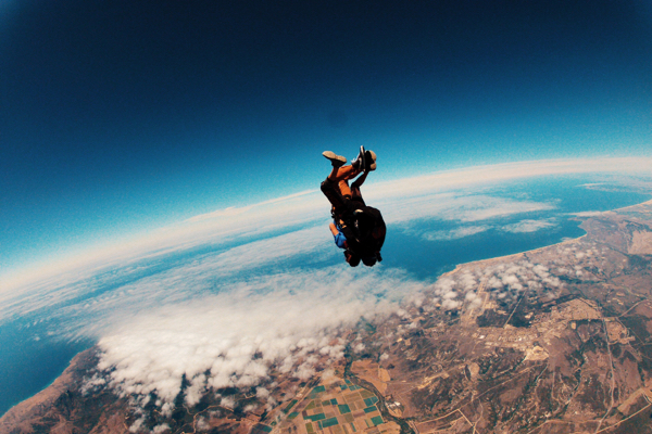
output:
[[[314,189],[649,155],[647,1],[0,5],[0,263]]]

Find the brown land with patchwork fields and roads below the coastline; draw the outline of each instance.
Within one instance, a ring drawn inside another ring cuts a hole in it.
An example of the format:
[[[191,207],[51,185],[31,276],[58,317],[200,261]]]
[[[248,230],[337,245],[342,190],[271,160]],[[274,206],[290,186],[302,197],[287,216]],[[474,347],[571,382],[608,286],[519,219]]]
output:
[[[346,359],[308,382],[274,373],[271,411],[252,391],[223,390],[234,408],[206,394],[189,409],[181,392],[172,417],[153,405],[137,414],[128,397],[84,393],[91,349],[0,432],[127,433],[140,419],[138,432],[170,433],[652,433],[652,201],[582,228],[459,266],[398,314],[350,330]]]

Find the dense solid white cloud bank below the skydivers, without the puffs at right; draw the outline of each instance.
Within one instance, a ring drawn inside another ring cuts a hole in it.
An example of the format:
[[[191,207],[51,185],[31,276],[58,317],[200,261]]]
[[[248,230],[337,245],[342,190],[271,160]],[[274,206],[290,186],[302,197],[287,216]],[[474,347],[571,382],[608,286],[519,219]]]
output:
[[[336,267],[264,276],[147,314],[116,312],[116,326],[99,341],[105,373],[88,387],[105,378],[140,404],[154,393],[164,412],[172,411],[184,375],[189,406],[209,390],[229,386],[258,387],[265,397],[272,369],[308,380],[319,362],[342,357],[342,327],[388,315],[398,299],[423,289],[397,271]]]

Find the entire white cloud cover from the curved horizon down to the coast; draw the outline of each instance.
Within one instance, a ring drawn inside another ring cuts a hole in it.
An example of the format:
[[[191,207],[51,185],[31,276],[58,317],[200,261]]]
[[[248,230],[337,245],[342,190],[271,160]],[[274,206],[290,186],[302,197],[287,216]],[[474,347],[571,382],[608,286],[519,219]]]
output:
[[[651,162],[647,161],[647,169]],[[630,163],[487,166],[372,183],[368,189],[365,186],[365,199],[384,210],[388,224],[438,218],[468,225],[422,233],[427,240],[453,240],[492,228],[479,221],[554,208],[549,203],[472,193],[469,187],[586,167],[587,171],[612,170]],[[339,333],[362,315],[369,319],[394,311],[401,315],[401,299],[439,304],[444,310],[477,306],[480,284],[496,299],[511,299],[526,289],[553,295],[564,285],[557,270],[586,276],[577,263],[598,254],[568,248],[563,252],[566,263],[556,268],[522,260],[444,276],[431,286],[434,293],[427,299],[423,295],[430,290],[427,282],[384,265],[372,270],[288,266],[338,253],[325,228],[327,213],[321,193],[308,191],[209,213],[83,258],[52,264],[29,279],[3,281],[0,322],[52,308],[48,315],[66,319],[66,337],[99,340],[101,372],[89,379],[87,388],[108,385],[136,397],[136,404],[154,393],[161,411],[168,413],[184,376],[189,381],[188,406],[209,391],[229,385],[252,387],[260,398],[272,399],[267,383],[274,371],[313,375],[323,363],[341,357]],[[531,232],[552,225],[554,220],[525,219],[502,229]],[[290,228],[290,233],[269,235]],[[239,245],[227,248],[227,243]],[[215,248],[172,263],[166,256],[200,245]],[[235,404],[224,397],[222,405]],[[137,424],[133,425],[136,430]],[[164,432],[165,426],[160,430]]]

